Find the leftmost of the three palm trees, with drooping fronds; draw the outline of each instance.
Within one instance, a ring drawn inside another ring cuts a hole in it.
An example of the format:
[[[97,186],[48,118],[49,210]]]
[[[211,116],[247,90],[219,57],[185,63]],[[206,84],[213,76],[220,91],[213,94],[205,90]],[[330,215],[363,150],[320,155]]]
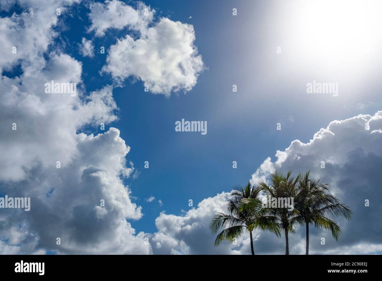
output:
[[[245,188],[240,186],[234,188],[227,204],[228,214],[217,213],[210,223],[210,231],[212,233],[217,233],[220,229],[223,229],[216,237],[215,247],[222,241],[233,242],[234,238],[238,238],[242,236],[245,231],[248,231],[251,240],[251,253],[254,255],[252,237],[254,229],[259,228],[272,231],[280,236],[278,225],[261,216],[262,203],[259,199],[260,193],[261,189],[251,187],[249,182]],[[251,207],[245,209],[242,207],[241,201],[243,198],[251,199]]]

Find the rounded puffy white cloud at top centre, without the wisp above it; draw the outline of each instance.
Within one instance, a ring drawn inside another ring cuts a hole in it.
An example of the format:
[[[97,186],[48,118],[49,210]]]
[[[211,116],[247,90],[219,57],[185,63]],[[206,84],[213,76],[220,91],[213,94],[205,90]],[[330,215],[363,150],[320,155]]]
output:
[[[139,39],[126,35],[108,50],[103,72],[117,81],[134,76],[154,94],[190,91],[203,70],[192,25],[162,18]]]

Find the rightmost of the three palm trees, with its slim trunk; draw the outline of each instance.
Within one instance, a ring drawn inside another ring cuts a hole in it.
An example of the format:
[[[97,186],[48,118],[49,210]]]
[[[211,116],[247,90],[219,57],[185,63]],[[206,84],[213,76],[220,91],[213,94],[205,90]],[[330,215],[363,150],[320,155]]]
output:
[[[350,220],[352,212],[340,200],[330,194],[328,184],[321,179],[309,178],[310,171],[304,176],[300,174],[298,183],[298,202],[295,208],[299,211],[298,221],[306,226],[306,255],[309,255],[309,224],[314,224],[322,230],[330,230],[336,241],[341,234],[341,228],[330,218],[343,216]],[[329,217],[329,218],[328,218]]]

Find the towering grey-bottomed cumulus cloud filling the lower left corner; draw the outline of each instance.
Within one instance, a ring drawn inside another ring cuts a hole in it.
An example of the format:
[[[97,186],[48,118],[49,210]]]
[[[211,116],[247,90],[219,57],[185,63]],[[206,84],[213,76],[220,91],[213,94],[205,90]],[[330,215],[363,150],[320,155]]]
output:
[[[28,180],[16,182],[16,190],[15,183],[3,187],[9,196],[31,197],[29,212],[2,212],[2,228],[22,225],[18,236],[12,234],[17,239],[8,244],[32,241],[31,250],[58,253],[150,253],[144,233],[136,234],[126,221],[141,218],[142,212],[118,177],[129,150],[119,131],[110,128],[96,136],[80,133],[77,143],[78,154],[70,164],[60,169],[36,167],[28,173]],[[56,244],[57,237],[61,245]]]

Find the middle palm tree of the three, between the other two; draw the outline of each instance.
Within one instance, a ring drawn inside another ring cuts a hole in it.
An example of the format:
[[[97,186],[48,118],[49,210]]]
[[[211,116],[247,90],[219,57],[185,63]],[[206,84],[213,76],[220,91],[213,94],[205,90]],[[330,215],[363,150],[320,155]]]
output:
[[[258,189],[260,189],[267,196],[268,201],[270,198],[294,198],[297,197],[296,186],[300,177],[291,177],[291,171],[286,175],[280,172],[273,172],[270,175],[270,185],[265,182],[259,182]],[[242,200],[244,210],[251,208],[256,202],[251,198]],[[277,206],[263,208],[263,215],[267,217],[272,223],[278,224],[278,229],[281,229],[285,234],[285,255],[289,255],[289,233],[295,233],[293,226],[301,219],[298,215],[299,212],[296,208],[290,210],[286,206]]]

